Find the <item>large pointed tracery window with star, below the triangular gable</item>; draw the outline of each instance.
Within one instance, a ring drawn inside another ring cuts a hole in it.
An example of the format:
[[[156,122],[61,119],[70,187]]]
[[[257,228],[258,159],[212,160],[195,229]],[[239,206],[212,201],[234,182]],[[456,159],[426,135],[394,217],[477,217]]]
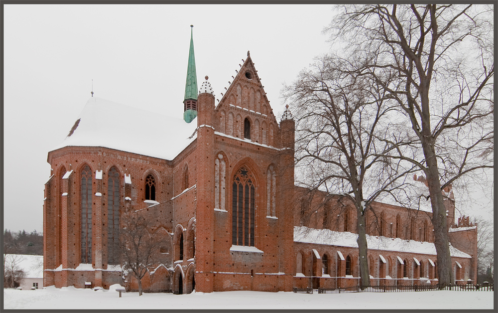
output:
[[[249,169],[241,167],[232,185],[232,244],[254,246],[255,187]]]

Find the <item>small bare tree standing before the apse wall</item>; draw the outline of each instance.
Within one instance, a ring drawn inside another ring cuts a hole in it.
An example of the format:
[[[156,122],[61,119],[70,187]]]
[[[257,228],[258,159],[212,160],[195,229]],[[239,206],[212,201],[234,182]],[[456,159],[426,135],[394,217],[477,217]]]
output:
[[[142,295],[142,278],[149,268],[158,262],[157,255],[164,238],[150,233],[147,220],[139,211],[124,213],[120,231],[121,266],[124,273],[133,276],[138,283],[138,295]]]

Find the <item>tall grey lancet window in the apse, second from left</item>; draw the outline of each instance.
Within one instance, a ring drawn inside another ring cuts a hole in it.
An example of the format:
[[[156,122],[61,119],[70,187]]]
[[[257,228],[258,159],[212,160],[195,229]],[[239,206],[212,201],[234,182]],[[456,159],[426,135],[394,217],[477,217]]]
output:
[[[92,263],[92,171],[81,171],[81,263]]]

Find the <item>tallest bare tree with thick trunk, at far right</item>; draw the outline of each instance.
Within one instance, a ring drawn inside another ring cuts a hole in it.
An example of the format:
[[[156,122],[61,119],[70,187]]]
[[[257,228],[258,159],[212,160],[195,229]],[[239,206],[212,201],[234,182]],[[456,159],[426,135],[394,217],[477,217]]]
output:
[[[493,167],[493,28],[491,5],[372,4],[343,6],[328,29],[374,60],[362,73],[396,73],[376,80],[402,114],[384,140],[427,178],[440,286],[453,282],[442,190]]]

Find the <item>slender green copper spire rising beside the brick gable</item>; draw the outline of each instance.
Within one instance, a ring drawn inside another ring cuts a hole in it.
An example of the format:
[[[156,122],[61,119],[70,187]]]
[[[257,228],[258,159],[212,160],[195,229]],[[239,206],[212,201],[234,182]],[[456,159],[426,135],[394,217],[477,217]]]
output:
[[[183,103],[185,105],[183,112],[183,119],[185,122],[190,123],[197,116],[197,74],[195,72],[195,57],[194,57],[194,38],[193,28],[190,25],[190,50],[188,53],[187,65],[187,81],[185,82],[185,98]]]

